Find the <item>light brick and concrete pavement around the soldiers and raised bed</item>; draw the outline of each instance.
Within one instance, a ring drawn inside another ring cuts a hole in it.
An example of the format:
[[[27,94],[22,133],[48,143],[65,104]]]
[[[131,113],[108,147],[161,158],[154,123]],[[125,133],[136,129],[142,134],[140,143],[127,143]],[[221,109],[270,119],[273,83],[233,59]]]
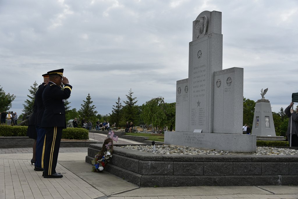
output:
[[[0,199],[298,198],[298,186],[138,187],[105,171],[91,172],[86,155],[87,147],[60,148],[56,170],[63,178],[52,179],[33,170],[32,148],[0,149]]]

